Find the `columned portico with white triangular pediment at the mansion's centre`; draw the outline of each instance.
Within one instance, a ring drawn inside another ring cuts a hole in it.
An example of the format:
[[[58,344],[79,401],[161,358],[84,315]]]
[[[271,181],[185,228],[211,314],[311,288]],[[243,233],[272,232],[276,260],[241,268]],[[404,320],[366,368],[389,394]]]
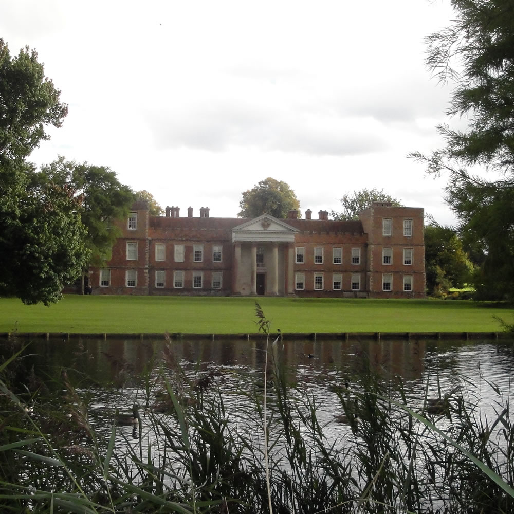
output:
[[[296,228],[263,214],[232,229],[232,293],[293,295]]]

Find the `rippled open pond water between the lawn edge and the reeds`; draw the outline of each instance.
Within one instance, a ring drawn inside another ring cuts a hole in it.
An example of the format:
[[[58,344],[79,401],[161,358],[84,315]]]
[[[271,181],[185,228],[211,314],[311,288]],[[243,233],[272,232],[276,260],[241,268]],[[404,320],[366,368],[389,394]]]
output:
[[[460,386],[470,401],[478,402],[481,417],[494,418],[501,410],[500,403],[510,403],[514,394],[513,345],[512,340],[487,339],[284,340],[279,343],[278,355],[288,383],[297,388],[293,396],[299,402],[316,402],[325,435],[335,439],[348,428],[334,421],[342,408],[333,389],[346,380],[357,388],[358,376],[368,365],[384,380],[401,377],[409,405],[414,409],[422,405],[425,391],[428,390],[428,397],[435,397],[440,388],[444,396]],[[5,351],[8,346],[4,345]],[[26,351],[30,355],[25,359],[27,368],[33,365],[39,376],[59,376],[61,369],[67,368],[76,379],[89,377],[90,381],[82,382],[79,390],[87,390],[91,417],[106,430],[116,408],[129,411],[134,401],[144,406],[149,399],[146,386],[150,384],[153,391],[164,386],[157,373],[161,366],[171,386],[180,386],[172,361],[179,363],[192,381],[209,373],[213,375],[213,385],[221,391],[229,414],[245,405],[245,396],[236,392],[252,391],[263,380],[266,342],[261,339],[173,340],[167,358],[163,358],[163,348],[162,340],[33,340]],[[30,389],[28,383],[27,388]]]

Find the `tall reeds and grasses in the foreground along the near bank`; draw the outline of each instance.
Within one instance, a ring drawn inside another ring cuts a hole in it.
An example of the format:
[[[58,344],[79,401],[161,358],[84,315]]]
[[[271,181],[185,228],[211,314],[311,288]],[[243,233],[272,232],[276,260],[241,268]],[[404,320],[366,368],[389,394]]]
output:
[[[429,398],[415,403],[399,378],[364,362],[352,392],[338,390],[347,426],[331,443],[319,400],[287,383],[280,338],[273,340],[266,391],[236,391],[247,401],[235,410],[214,374],[192,378],[181,369],[168,341],[141,378],[141,423],[131,435],[90,419],[85,377],[64,372],[50,392],[30,378],[23,354],[13,354],[0,365],[0,510],[513,511],[508,402],[485,420],[473,384],[461,378],[439,393],[433,413]]]

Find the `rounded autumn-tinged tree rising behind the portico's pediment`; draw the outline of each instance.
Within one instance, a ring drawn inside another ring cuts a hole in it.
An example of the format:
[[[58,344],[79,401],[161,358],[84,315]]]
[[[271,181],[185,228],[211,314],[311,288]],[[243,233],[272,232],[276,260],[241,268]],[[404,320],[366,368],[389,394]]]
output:
[[[295,192],[283,181],[268,177],[261,180],[253,189],[241,193],[239,202],[241,218],[254,218],[261,214],[270,214],[276,218],[286,218],[287,211],[300,209],[300,201]],[[301,217],[301,213],[298,213]]]

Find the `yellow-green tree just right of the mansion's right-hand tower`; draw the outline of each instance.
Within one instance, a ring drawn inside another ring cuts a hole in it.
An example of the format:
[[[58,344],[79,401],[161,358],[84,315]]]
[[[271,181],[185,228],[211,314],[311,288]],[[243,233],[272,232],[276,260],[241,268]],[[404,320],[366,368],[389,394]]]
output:
[[[433,219],[425,227],[425,271],[429,295],[463,287],[474,271],[455,230],[438,225]]]

